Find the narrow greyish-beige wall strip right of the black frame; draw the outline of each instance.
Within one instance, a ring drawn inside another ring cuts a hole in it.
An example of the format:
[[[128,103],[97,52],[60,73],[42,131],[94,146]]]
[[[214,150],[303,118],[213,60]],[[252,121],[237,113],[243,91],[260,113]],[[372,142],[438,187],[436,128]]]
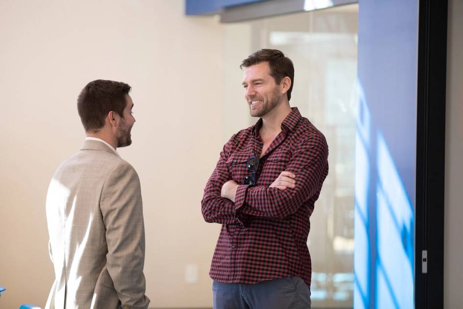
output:
[[[463,293],[463,0],[449,0],[445,128],[444,308]]]

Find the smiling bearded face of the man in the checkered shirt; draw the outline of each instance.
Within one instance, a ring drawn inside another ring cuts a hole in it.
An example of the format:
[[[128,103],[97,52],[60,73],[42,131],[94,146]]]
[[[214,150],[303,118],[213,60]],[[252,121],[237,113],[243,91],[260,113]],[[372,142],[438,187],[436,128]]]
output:
[[[268,62],[244,68],[244,98],[252,117],[264,117],[282,101],[282,88],[270,75]]]

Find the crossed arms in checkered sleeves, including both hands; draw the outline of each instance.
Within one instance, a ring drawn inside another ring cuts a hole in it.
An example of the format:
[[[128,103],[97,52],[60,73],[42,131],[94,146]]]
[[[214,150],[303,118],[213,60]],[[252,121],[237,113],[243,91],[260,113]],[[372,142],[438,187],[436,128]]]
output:
[[[328,173],[326,140],[321,133],[311,133],[293,147],[285,171],[270,185],[240,185],[226,164],[233,139],[223,147],[204,189],[201,211],[206,222],[232,224],[243,215],[284,218],[319,191]]]

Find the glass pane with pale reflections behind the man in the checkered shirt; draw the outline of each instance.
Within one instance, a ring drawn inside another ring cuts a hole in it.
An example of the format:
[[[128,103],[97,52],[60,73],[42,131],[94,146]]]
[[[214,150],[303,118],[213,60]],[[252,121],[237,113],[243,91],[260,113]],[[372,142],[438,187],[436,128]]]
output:
[[[291,105],[329,145],[330,173],[310,220],[313,308],[353,306],[357,19],[358,5],[352,4],[224,26],[226,136],[256,121],[248,117],[239,126],[248,115],[237,70],[241,60],[272,48],[294,62]]]

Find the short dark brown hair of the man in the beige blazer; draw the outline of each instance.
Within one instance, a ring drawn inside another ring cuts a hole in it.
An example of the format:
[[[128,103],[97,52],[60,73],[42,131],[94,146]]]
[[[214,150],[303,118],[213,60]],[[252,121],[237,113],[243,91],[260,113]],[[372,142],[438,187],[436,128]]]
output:
[[[106,115],[112,110],[123,117],[130,89],[121,81],[97,79],[89,82],[77,98],[77,111],[86,132],[99,131]]]

